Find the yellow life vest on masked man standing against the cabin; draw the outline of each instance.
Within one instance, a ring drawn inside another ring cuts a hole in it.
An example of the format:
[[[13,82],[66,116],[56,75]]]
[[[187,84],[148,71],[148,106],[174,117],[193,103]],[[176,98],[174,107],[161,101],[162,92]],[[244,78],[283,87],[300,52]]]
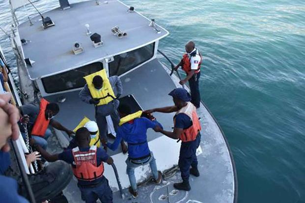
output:
[[[102,87],[101,90],[95,89],[95,87],[94,87],[94,85],[92,83],[94,76],[101,76],[103,78],[103,87]],[[88,76],[84,76],[83,78],[87,82],[89,91],[90,91],[91,96],[92,96],[93,99],[106,97],[105,99],[100,99],[100,102],[97,104],[98,106],[107,104],[110,101],[112,101],[113,98],[115,98],[114,92],[112,90],[112,87],[111,87],[110,81],[109,81],[109,79],[107,77],[105,69],[103,69],[101,71],[98,71],[98,72],[96,72],[94,74],[90,74]],[[113,98],[110,97],[110,96],[107,97],[108,95],[111,95]]]

